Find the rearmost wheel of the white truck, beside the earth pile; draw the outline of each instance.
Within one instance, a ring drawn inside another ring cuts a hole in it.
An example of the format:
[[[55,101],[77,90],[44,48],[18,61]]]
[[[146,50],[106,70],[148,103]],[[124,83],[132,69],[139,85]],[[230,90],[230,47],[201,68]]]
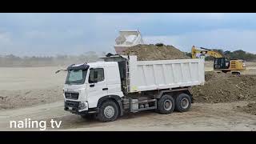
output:
[[[188,94],[179,94],[175,100],[175,110],[179,112],[185,112],[190,110],[191,99]]]

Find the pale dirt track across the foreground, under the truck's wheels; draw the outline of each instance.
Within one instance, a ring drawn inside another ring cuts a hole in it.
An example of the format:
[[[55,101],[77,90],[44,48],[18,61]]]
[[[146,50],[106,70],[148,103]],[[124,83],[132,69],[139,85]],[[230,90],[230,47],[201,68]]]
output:
[[[0,112],[1,130],[10,129],[10,120],[62,121],[59,129],[46,130],[86,130],[86,131],[115,131],[115,130],[256,130],[256,116],[246,114],[238,109],[238,106],[246,106],[247,102],[232,103],[194,103],[191,110],[186,113],[174,112],[164,115],[154,111],[146,111],[138,114],[127,114],[118,118],[115,122],[88,121],[78,115],[70,114],[63,110],[62,102],[34,106],[16,110]],[[18,129],[38,130],[38,129]]]

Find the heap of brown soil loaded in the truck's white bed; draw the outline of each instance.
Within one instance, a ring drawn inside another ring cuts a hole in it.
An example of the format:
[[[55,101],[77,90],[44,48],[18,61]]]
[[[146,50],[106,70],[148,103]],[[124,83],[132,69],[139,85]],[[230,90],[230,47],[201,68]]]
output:
[[[139,61],[189,59],[181,50],[174,46],[137,45],[124,51],[124,54],[137,55]]]

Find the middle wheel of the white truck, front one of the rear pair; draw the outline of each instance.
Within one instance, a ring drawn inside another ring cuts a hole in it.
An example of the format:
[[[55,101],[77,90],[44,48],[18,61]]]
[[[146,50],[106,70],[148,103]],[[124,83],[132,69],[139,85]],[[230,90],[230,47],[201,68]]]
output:
[[[163,95],[158,100],[158,113],[159,114],[170,114],[174,111],[174,98],[170,95]]]

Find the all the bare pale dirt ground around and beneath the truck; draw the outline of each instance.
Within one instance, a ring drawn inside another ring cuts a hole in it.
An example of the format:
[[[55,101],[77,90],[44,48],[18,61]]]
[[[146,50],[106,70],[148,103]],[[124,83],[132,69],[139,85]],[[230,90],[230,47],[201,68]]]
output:
[[[247,66],[250,72],[246,70],[244,74],[256,75],[256,62]],[[252,100],[195,102],[185,113],[162,115],[146,111],[127,114],[115,122],[86,121],[63,110],[66,73],[54,74],[62,68],[0,68],[0,130],[19,130],[10,129],[9,122],[25,118],[62,121],[60,129],[54,130],[256,130],[256,115],[244,109]],[[206,62],[206,69],[210,68]]]

